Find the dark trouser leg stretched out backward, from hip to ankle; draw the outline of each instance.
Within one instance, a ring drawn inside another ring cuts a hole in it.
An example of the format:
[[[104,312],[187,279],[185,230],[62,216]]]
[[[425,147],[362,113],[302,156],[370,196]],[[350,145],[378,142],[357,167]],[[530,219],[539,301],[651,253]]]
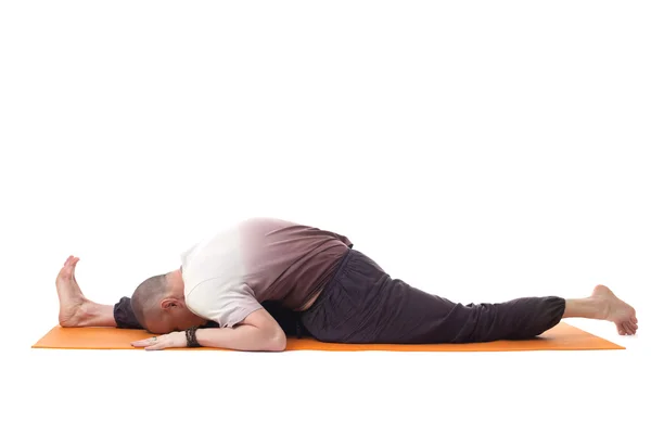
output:
[[[301,321],[324,342],[470,343],[535,337],[559,323],[564,310],[565,299],[556,296],[452,303],[392,279],[350,250]]]

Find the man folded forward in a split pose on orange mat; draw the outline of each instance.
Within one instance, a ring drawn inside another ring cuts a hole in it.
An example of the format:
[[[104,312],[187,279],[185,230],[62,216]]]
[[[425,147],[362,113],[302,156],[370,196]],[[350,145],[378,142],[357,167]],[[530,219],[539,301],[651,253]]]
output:
[[[242,221],[181,255],[181,267],[99,305],[71,256],[56,288],[63,327],[143,328],[136,347],[280,352],[286,335],[339,343],[469,343],[535,337],[562,318],[609,320],[635,334],[635,309],[607,286],[591,296],[461,305],[393,279],[343,235],[280,219]]]

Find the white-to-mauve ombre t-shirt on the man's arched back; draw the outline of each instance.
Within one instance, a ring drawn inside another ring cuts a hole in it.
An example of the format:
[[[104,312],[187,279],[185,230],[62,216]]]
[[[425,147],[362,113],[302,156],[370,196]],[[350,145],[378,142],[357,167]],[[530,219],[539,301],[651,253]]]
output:
[[[265,301],[301,310],[352,246],[346,237],[291,221],[242,221],[181,256],[188,306],[210,306],[221,327]]]

